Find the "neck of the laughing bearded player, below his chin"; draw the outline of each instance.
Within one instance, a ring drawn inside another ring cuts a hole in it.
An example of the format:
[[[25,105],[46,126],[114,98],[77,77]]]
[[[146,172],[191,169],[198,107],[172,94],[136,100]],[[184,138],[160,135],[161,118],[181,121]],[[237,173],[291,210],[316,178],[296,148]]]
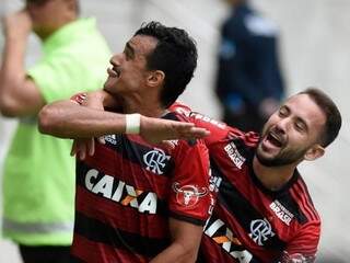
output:
[[[266,167],[255,157],[253,160],[253,170],[265,187],[271,191],[278,191],[292,179],[295,164]]]

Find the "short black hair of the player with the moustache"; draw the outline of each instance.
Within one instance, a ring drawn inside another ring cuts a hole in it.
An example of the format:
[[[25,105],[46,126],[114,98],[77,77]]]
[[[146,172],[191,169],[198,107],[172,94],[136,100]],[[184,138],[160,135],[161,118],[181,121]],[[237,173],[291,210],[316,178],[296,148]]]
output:
[[[186,31],[154,21],[142,24],[135,35],[158,39],[154,50],[147,57],[147,68],[165,73],[160,99],[163,106],[168,107],[194,77],[198,57],[196,43]]]

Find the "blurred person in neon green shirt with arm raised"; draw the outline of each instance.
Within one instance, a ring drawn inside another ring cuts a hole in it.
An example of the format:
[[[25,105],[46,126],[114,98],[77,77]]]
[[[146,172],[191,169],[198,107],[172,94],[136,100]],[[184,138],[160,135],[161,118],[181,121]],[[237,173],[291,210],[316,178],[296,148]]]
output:
[[[73,230],[71,144],[40,135],[36,115],[46,103],[101,88],[110,56],[95,20],[78,16],[78,0],[26,0],[3,20],[0,110],[20,122],[3,167],[2,231],[28,263],[69,262]],[[31,32],[43,57],[26,71]]]

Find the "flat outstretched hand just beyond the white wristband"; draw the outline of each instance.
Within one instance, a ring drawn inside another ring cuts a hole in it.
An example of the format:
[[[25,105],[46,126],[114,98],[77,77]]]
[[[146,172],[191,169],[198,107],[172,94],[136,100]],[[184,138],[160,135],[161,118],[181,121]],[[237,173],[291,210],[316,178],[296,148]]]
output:
[[[152,118],[141,115],[140,135],[151,144],[161,144],[173,139],[202,138],[209,134],[209,130],[196,127],[192,123]]]

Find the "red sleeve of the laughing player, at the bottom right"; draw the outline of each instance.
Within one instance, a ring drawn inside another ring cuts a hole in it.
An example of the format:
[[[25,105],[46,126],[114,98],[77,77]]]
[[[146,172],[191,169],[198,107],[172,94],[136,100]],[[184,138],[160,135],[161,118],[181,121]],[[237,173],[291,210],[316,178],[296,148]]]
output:
[[[280,262],[312,263],[315,261],[319,242],[320,222],[311,221],[305,224],[293,240],[288,243]],[[294,261],[293,261],[294,260]]]

